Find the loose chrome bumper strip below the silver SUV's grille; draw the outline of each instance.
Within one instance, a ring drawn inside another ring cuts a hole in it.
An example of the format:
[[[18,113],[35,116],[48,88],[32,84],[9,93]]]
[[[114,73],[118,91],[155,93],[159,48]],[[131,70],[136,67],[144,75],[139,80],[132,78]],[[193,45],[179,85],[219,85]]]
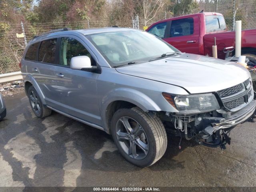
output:
[[[234,113],[229,119],[221,123],[213,123],[215,131],[236,126],[248,120],[255,112],[256,100],[252,100],[247,106]]]

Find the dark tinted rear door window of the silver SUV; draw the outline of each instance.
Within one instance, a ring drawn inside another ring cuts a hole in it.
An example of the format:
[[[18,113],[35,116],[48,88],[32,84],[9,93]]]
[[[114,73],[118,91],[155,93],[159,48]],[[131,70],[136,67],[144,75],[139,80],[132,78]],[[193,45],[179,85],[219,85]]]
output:
[[[57,42],[57,39],[49,39],[49,40],[42,41],[39,48],[38,61],[56,64],[56,61],[55,61],[56,42]]]

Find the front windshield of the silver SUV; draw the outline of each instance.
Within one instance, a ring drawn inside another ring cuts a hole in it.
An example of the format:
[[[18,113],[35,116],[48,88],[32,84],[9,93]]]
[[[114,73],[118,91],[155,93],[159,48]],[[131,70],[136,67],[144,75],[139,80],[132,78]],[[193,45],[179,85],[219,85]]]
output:
[[[124,30],[86,35],[108,63],[114,67],[147,61],[165,53],[179,52],[160,38],[144,31]]]

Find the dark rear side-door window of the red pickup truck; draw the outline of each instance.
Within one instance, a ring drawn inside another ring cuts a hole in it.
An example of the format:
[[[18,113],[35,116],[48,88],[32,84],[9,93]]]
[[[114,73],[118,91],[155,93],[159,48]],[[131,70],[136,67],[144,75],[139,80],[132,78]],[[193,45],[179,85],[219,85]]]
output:
[[[192,35],[194,33],[193,18],[173,20],[170,29],[170,37]]]

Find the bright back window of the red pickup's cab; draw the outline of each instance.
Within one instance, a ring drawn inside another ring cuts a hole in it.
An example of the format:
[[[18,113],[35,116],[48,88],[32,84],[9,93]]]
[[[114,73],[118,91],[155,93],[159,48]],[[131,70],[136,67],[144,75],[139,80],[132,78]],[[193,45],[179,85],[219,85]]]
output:
[[[223,16],[209,15],[205,17],[206,32],[226,30],[226,22]]]

